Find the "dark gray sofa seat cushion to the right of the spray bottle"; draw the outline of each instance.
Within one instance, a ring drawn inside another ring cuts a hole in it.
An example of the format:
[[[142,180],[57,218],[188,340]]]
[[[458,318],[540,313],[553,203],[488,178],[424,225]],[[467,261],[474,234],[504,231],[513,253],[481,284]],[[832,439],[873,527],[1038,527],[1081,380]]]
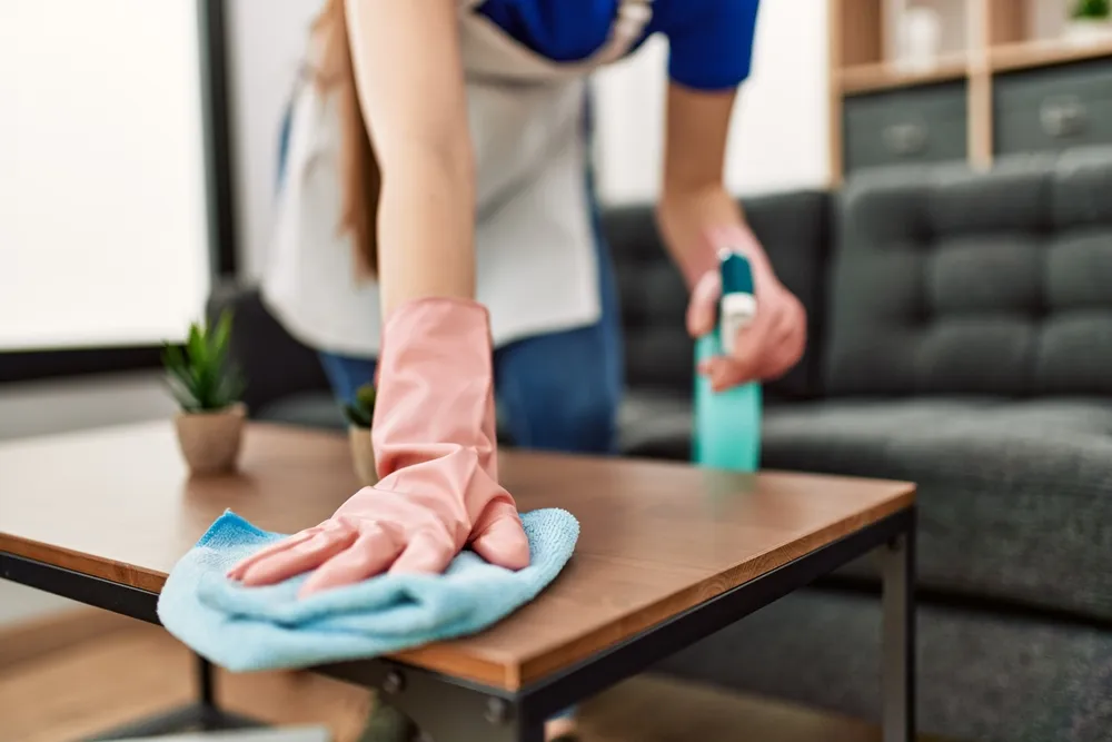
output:
[[[926,587],[1112,619],[1112,399],[785,405],[763,446],[771,468],[917,483]]]

